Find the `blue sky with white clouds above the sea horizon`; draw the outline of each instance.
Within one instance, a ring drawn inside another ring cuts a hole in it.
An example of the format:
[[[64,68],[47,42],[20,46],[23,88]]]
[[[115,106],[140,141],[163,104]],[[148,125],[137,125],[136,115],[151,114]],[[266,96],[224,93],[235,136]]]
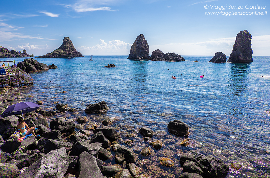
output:
[[[252,35],[253,56],[270,56],[269,0],[0,1],[0,45],[35,56],[57,49],[65,36],[83,55],[128,55],[139,34],[150,55],[229,56],[241,30]]]

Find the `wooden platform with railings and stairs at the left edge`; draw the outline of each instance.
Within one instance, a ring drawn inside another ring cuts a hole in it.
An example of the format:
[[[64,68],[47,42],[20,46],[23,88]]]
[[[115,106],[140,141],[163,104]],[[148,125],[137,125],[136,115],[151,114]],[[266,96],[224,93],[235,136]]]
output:
[[[8,65],[0,68],[0,86],[22,86],[23,84],[33,85],[33,78],[19,67],[16,67],[15,61],[0,61],[0,64],[3,62]],[[10,62],[14,62],[14,65],[10,66]]]

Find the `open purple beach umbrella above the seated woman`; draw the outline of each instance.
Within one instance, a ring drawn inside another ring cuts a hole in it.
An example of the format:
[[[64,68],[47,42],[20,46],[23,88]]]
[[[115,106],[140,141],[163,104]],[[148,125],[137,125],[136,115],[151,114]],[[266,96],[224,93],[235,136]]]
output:
[[[20,102],[20,103],[16,103],[8,107],[6,110],[4,110],[4,112],[2,112],[0,116],[4,118],[4,117],[14,115],[14,114],[22,114],[22,118],[23,118],[24,113],[32,112],[38,109],[39,107],[40,105],[32,103],[32,102],[28,102],[28,101]]]

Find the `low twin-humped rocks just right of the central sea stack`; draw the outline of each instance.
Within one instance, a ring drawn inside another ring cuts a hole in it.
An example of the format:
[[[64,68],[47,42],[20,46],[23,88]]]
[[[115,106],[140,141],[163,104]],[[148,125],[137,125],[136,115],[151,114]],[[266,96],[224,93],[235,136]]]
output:
[[[175,53],[166,53],[164,54],[161,50],[157,49],[152,52],[150,60],[152,61],[168,61],[168,62],[177,62],[184,61],[184,57]]]

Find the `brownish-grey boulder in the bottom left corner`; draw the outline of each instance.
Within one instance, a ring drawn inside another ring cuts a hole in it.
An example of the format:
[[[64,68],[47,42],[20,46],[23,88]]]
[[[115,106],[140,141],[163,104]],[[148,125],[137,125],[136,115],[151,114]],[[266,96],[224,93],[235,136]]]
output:
[[[0,163],[0,177],[16,178],[20,175],[20,171],[14,164]]]

